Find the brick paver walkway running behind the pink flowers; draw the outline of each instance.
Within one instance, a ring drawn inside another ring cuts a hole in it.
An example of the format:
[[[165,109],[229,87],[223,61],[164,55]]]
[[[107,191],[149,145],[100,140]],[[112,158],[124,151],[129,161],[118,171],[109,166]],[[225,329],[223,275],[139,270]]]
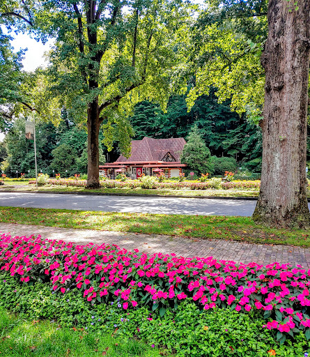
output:
[[[188,239],[155,234],[132,234],[92,229],[65,229],[31,225],[0,223],[0,232],[16,236],[40,234],[43,238],[62,239],[79,244],[108,243],[121,248],[140,252],[175,253],[182,257],[214,257],[242,263],[255,261],[258,264],[279,263],[301,264],[310,268],[310,249],[290,245],[262,245],[224,241],[219,239]]]

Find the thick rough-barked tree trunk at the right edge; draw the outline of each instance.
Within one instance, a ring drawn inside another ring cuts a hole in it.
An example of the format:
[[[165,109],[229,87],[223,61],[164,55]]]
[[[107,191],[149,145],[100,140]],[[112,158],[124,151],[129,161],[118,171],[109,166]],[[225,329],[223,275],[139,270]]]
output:
[[[310,0],[270,0],[265,68],[261,191],[253,218],[269,225],[309,227],[307,105]]]

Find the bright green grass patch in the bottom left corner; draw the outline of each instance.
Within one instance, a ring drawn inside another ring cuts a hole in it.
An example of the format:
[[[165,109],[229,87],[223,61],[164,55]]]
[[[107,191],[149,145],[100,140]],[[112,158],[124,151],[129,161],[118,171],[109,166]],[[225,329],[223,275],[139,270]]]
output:
[[[0,310],[0,356],[160,357],[160,351],[137,340],[60,328],[50,321],[26,321]]]

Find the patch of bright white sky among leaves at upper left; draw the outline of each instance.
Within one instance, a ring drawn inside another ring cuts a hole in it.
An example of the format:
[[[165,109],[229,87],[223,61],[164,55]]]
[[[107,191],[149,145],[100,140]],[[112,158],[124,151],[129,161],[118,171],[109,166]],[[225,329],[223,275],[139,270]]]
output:
[[[14,50],[17,52],[21,48],[28,49],[24,55],[24,59],[22,64],[24,66],[24,70],[32,72],[36,68],[40,66],[46,66],[47,63],[44,58],[44,52],[48,51],[50,45],[52,45],[52,40],[49,40],[45,45],[42,42],[38,42],[30,38],[28,35],[24,33],[19,34],[10,34],[11,36],[15,37],[11,44],[14,47]],[[4,134],[0,132],[0,142],[3,140]]]

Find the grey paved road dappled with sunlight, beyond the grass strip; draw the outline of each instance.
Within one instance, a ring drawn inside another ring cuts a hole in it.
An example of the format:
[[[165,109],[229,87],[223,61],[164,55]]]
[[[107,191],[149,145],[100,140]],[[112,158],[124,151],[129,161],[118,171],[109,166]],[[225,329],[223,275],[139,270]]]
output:
[[[0,206],[187,215],[251,215],[256,201],[0,192]]]

